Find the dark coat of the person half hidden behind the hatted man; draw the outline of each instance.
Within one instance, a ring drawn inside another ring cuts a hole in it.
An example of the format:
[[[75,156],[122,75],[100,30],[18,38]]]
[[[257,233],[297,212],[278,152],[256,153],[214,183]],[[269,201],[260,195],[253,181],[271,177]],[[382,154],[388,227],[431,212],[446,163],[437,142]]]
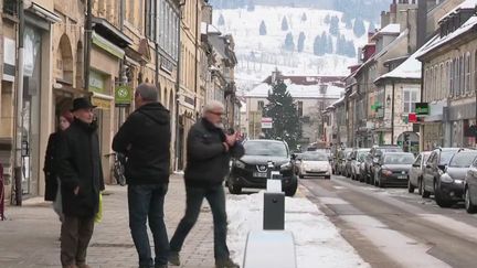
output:
[[[57,150],[60,146],[60,132],[50,135],[46,146],[43,172],[45,174],[45,201],[54,201],[57,192]]]

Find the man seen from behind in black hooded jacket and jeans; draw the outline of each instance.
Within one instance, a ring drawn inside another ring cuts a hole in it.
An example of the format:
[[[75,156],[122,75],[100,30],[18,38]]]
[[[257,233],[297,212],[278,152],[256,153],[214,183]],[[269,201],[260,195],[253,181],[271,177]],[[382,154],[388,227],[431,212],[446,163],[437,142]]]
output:
[[[139,255],[139,267],[166,268],[169,239],[163,204],[169,185],[170,114],[158,103],[158,89],[152,84],[140,84],[136,88],[135,104],[136,110],[113,140],[113,150],[127,158],[129,227]],[[153,261],[147,219],[155,243]]]

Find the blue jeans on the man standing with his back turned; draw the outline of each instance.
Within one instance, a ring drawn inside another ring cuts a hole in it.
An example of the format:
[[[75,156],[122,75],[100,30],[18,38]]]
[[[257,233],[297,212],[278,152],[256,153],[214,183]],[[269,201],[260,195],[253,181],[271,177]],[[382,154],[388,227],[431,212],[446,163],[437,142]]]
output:
[[[163,222],[163,204],[167,191],[167,183],[128,186],[129,227],[139,255],[139,267],[149,268],[153,267],[155,262],[157,266],[168,262],[169,239]],[[148,217],[155,243],[155,261],[152,261],[146,227]]]

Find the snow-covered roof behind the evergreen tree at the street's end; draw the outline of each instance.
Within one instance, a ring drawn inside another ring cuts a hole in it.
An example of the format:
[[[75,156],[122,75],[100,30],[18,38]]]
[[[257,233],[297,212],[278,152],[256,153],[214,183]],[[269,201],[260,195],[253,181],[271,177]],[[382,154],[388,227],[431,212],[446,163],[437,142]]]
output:
[[[326,94],[321,94],[320,85],[296,85],[292,84],[290,81],[285,81],[287,90],[294,98],[340,98],[344,88],[327,85]],[[246,97],[268,97],[268,90],[272,90],[272,86],[267,83],[262,83],[254,87],[252,90],[245,93]]]

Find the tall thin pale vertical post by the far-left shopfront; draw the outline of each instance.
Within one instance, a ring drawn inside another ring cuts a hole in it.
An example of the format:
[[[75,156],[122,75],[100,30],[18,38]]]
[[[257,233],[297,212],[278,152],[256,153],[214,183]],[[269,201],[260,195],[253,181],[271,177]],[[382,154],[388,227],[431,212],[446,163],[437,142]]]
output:
[[[12,200],[12,204],[18,206],[22,205],[22,156],[21,156],[21,143],[23,136],[23,34],[24,34],[24,10],[23,10],[23,0],[18,1],[18,11],[19,11],[19,49],[18,49],[18,83],[17,83],[17,131],[15,131],[15,156],[14,156],[14,183],[12,186],[14,191],[14,201]]]

